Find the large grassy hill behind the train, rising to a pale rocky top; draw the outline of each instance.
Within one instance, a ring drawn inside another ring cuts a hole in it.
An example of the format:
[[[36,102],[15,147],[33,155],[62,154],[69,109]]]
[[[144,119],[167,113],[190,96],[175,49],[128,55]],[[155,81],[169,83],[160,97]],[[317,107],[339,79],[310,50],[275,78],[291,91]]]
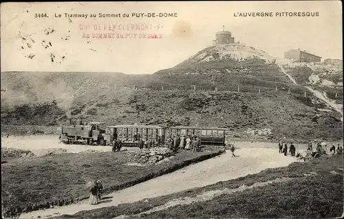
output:
[[[1,89],[1,125],[61,125],[70,111],[109,125],[228,127],[243,138],[343,133],[341,114],[294,85],[276,59],[244,45],[206,48],[152,75],[1,72]]]

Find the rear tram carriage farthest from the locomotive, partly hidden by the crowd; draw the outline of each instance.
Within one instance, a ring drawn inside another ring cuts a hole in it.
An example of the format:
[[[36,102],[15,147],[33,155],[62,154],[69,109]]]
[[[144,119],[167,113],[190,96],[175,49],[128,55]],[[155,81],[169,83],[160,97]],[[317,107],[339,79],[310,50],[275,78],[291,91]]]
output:
[[[187,127],[177,126],[170,127],[169,136],[199,136],[201,146],[225,146],[226,130],[217,127]]]

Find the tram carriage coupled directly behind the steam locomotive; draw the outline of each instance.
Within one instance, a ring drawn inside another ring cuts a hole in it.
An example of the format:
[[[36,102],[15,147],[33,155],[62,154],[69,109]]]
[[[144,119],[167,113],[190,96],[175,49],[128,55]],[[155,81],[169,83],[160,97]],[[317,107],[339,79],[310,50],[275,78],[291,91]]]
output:
[[[153,125],[112,125],[108,126],[110,132],[110,140],[122,140],[122,146],[138,147],[138,140],[155,139],[158,145],[162,145],[165,141],[165,129],[160,126]]]

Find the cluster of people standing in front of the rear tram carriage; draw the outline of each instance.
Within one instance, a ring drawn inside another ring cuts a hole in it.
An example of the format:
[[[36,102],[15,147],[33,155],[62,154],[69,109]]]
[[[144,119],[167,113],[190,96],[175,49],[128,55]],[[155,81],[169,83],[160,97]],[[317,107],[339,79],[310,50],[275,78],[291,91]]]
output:
[[[177,151],[178,149],[193,149],[193,152],[197,152],[197,150],[201,146],[201,140],[198,136],[170,136],[166,140],[166,145],[169,149],[173,151]]]

